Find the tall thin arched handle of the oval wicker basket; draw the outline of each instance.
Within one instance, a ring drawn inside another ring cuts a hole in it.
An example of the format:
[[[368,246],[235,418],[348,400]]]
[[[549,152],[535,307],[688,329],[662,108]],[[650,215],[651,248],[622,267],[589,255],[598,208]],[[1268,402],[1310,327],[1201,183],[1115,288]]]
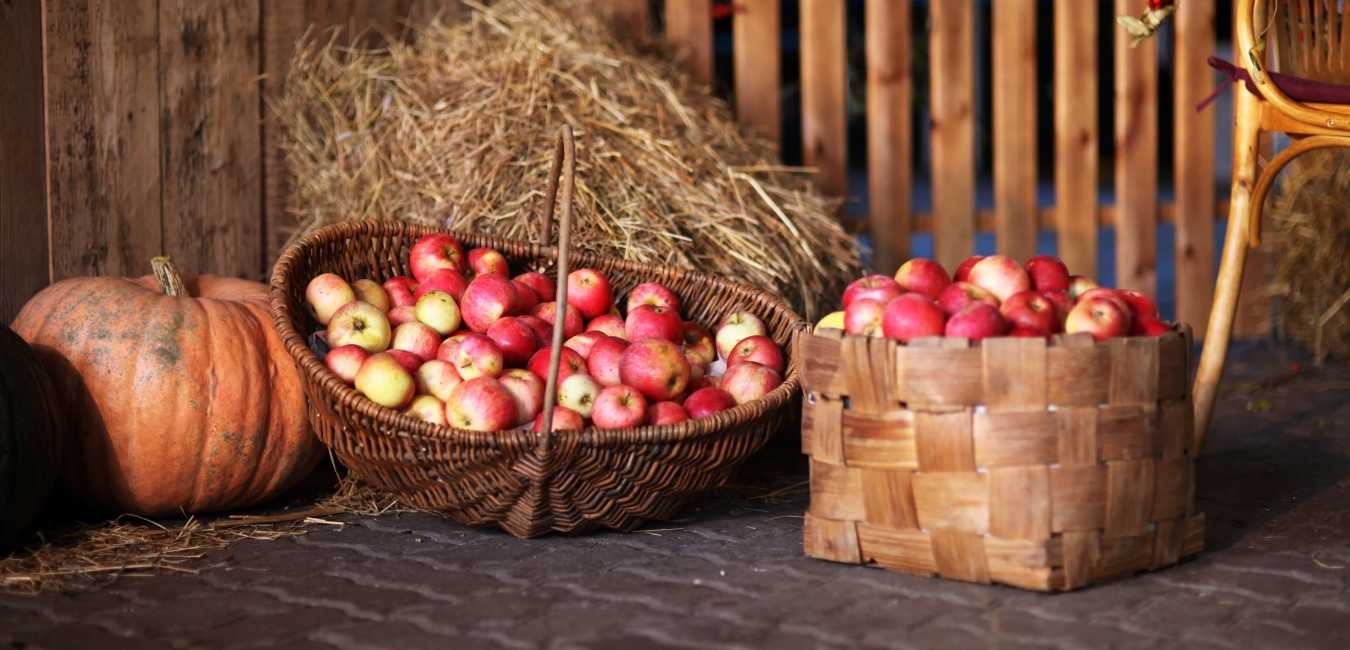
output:
[[[554,166],[548,172],[548,204],[544,207],[544,219],[539,227],[544,246],[548,245],[549,231],[552,230],[559,172],[562,172],[563,177],[563,218],[558,223],[558,280],[555,282],[558,285],[558,295],[554,299],[558,307],[554,311],[554,341],[548,354],[548,380],[544,382],[544,422],[539,431],[539,453],[544,458],[548,458],[548,447],[554,438],[554,401],[558,397],[558,365],[563,359],[563,322],[567,320],[564,318],[567,314],[567,272],[572,243],[572,193],[575,191],[576,176],[576,141],[572,138],[572,127],[568,124],[563,124],[559,130],[558,147],[554,150]]]

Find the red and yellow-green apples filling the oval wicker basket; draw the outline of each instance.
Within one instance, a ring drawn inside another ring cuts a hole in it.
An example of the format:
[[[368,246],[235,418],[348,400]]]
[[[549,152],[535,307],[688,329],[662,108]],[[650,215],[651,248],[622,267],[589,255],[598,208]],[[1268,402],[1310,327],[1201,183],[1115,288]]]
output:
[[[625,314],[594,269],[567,274],[559,314],[554,281],[510,276],[494,249],[466,255],[446,234],[418,239],[413,277],[348,284],[310,280],[305,300],[325,326],[324,362],[377,404],[435,424],[501,431],[543,427],[554,322],[566,343],[551,428],[674,424],[763,397],[782,382],[783,351],[748,311],[716,335],[680,318],[668,288],[640,284]]]

